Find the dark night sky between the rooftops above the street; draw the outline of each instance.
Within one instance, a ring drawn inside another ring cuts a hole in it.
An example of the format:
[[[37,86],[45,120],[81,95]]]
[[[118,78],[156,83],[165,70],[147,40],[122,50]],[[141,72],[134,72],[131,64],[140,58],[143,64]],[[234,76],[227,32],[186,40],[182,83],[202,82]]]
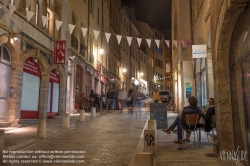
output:
[[[171,0],[122,0],[122,4],[134,4],[136,18],[151,27],[171,29]]]

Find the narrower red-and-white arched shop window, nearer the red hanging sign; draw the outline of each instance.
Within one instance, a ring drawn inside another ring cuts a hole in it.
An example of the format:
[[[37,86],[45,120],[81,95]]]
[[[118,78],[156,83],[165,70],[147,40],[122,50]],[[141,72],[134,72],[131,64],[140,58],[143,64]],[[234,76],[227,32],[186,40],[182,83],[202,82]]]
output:
[[[60,77],[56,70],[52,70],[49,79],[47,118],[58,115],[59,89]]]

